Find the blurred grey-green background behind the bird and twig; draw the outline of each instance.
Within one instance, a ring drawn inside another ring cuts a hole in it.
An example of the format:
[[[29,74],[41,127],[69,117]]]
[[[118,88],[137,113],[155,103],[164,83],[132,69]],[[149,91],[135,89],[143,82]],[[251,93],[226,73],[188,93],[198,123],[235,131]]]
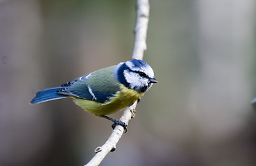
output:
[[[130,59],[135,3],[0,0],[0,165],[85,165],[94,156],[111,122],[71,99],[28,102]],[[256,165],[256,1],[150,5],[144,60],[159,83],[101,165]]]

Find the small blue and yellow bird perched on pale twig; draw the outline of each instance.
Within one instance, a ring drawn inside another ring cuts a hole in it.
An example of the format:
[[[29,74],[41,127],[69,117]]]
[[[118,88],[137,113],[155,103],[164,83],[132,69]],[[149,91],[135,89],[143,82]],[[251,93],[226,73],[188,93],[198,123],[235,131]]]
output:
[[[127,131],[124,122],[105,115],[132,105],[157,82],[149,64],[140,59],[130,59],[58,87],[38,91],[30,104],[69,97],[85,111],[114,122],[113,129],[121,125]]]

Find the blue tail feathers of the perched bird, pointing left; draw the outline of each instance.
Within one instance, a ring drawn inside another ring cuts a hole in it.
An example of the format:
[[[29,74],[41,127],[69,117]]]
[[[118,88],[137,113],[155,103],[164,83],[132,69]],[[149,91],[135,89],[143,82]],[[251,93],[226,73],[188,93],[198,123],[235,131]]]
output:
[[[61,86],[51,89],[44,89],[42,91],[39,91],[35,93],[35,98],[33,98],[30,102],[30,104],[38,104],[41,102],[48,102],[50,100],[57,100],[61,98],[67,98],[67,95],[60,95],[56,93],[57,91],[60,91],[61,89],[65,89],[67,86]]]

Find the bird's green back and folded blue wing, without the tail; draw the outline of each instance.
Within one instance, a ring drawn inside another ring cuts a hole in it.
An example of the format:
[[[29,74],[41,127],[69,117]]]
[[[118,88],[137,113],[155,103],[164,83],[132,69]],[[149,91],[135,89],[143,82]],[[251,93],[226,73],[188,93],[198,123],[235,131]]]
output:
[[[112,68],[96,71],[62,84],[62,86],[67,86],[67,88],[61,89],[57,93],[104,103],[119,91],[119,84],[114,76],[112,76]]]

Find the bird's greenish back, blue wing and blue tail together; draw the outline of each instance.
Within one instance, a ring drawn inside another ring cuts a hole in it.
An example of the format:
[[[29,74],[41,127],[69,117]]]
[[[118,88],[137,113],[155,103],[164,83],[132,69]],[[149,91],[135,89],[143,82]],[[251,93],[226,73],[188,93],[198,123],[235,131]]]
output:
[[[60,87],[39,91],[31,100],[31,104],[67,98],[68,96],[101,103],[107,102],[120,90],[119,82],[113,74],[114,68],[115,66],[103,68],[62,84]]]

